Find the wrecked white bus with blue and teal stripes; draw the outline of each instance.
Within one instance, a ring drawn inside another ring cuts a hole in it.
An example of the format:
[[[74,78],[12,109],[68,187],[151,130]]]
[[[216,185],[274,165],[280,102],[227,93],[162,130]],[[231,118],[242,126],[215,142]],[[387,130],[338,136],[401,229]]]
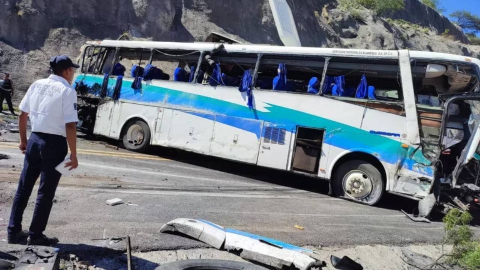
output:
[[[133,151],[162,145],[307,174],[369,205],[385,191],[419,200],[477,180],[476,58],[103,40],[86,42],[79,63],[78,129]]]

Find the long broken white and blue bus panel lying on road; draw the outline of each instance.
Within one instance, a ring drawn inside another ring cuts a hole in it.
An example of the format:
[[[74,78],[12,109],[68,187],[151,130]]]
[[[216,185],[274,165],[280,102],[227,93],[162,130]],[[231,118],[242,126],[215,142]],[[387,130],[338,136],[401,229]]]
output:
[[[300,270],[326,266],[309,249],[276,239],[223,228],[206,220],[177,218],[164,224],[160,232],[177,231],[217,249],[224,248],[240,257],[273,266],[278,269],[296,267]]]

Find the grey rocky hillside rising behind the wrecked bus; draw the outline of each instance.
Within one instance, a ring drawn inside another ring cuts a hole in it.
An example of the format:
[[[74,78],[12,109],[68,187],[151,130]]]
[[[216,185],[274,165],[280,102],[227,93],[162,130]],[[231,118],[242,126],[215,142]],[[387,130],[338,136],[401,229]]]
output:
[[[410,48],[480,53],[447,18],[419,0],[388,19],[335,0],[288,0],[303,46]],[[47,74],[54,54],[77,56],[88,39],[123,33],[161,41],[203,40],[211,31],[281,44],[268,0],[0,0],[0,70],[20,89]]]

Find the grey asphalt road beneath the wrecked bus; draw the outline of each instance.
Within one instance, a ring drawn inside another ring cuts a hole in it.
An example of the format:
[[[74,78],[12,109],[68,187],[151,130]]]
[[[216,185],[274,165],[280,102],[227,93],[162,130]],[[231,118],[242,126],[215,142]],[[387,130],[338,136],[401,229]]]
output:
[[[6,238],[22,166],[17,137],[0,136],[0,153],[10,155],[0,160],[0,239]],[[60,180],[45,233],[57,236],[63,248],[122,249],[124,242],[92,239],[125,235],[143,251],[206,246],[158,232],[177,217],[202,218],[300,246],[439,243],[443,236],[440,222],[405,218],[400,209],[416,207],[406,198],[386,195],[379,205],[365,206],[329,196],[327,183],[318,179],[162,147],[132,153],[107,148],[106,143],[116,142],[81,138],[80,166]],[[24,214],[24,228],[35,194]],[[115,197],[136,205],[105,203]],[[19,249],[0,242],[0,250]]]

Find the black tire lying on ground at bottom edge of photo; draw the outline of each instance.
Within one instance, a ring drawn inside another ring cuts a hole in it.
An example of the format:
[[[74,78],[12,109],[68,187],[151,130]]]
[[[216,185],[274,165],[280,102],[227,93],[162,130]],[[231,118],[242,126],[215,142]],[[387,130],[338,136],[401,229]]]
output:
[[[265,270],[259,265],[222,259],[185,259],[162,264],[155,270]]]

